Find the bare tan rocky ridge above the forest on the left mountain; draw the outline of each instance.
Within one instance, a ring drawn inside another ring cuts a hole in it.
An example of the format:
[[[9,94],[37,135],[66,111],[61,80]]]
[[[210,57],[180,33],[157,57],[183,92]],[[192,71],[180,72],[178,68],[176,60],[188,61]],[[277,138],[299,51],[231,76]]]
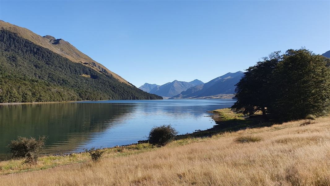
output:
[[[104,73],[108,73],[109,75],[117,79],[119,82],[123,82],[127,85],[132,86],[125,79],[123,79],[116,73],[110,71],[102,64],[94,61],[92,58],[88,57],[87,55],[83,54],[74,46],[72,46],[69,42],[66,42],[63,39],[55,39],[54,37],[49,35],[42,37],[38,34],[33,33],[31,30],[10,24],[2,20],[0,20],[0,30],[8,30],[17,33],[18,36],[27,39],[33,42],[34,44],[47,48],[56,54],[66,57],[70,61],[81,63],[89,68],[94,69],[97,72],[101,71]]]

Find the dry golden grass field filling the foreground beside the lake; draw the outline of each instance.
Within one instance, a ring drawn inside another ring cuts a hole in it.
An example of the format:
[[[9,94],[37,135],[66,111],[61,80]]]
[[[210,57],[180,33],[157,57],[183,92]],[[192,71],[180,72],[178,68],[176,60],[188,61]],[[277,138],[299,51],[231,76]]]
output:
[[[211,137],[185,136],[161,148],[138,144],[107,149],[98,163],[84,153],[42,157],[33,167],[23,167],[19,160],[1,162],[0,174],[29,172],[2,175],[0,183],[330,186],[329,117],[256,127],[264,124],[230,110],[214,113],[218,123],[241,123],[241,130],[226,132],[220,127],[209,131]]]

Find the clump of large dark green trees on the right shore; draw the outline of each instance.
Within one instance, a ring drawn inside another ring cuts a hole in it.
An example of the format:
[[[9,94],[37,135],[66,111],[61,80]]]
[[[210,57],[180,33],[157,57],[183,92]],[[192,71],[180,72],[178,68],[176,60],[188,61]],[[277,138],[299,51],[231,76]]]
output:
[[[233,109],[287,121],[330,111],[330,59],[306,49],[274,52],[245,72]]]

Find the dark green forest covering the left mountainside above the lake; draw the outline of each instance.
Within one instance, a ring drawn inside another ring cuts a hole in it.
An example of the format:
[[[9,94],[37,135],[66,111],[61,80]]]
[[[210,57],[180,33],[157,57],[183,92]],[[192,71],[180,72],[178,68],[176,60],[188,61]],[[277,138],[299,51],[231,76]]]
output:
[[[0,102],[116,99],[162,97],[74,63],[16,33],[0,30]]]

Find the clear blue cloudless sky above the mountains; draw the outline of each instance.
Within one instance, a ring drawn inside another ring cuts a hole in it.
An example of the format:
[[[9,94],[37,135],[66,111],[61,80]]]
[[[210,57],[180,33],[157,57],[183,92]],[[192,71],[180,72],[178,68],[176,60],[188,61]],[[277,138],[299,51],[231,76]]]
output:
[[[0,19],[62,38],[139,87],[330,50],[330,1],[0,1]]]

